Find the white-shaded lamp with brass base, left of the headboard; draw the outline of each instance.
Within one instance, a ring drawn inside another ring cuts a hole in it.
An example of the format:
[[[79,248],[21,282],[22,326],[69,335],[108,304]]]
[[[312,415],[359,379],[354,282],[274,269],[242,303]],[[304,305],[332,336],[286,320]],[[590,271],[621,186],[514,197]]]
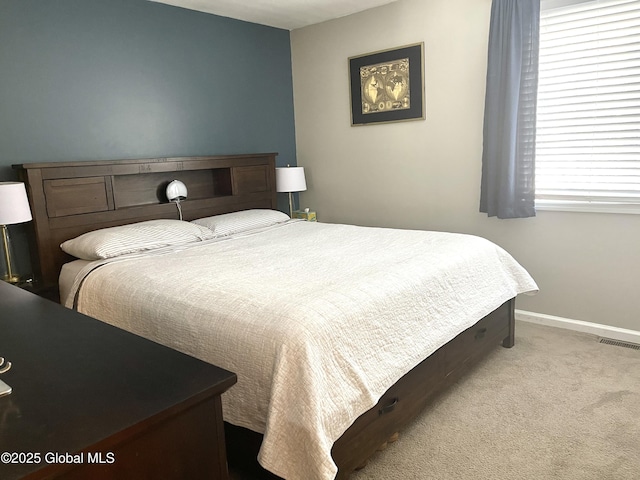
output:
[[[7,264],[7,274],[3,278],[5,282],[18,283],[20,281],[20,277],[13,273],[11,266],[7,225],[28,222],[29,220],[31,220],[31,210],[24,183],[0,182],[0,230],[2,230],[4,258]]]

